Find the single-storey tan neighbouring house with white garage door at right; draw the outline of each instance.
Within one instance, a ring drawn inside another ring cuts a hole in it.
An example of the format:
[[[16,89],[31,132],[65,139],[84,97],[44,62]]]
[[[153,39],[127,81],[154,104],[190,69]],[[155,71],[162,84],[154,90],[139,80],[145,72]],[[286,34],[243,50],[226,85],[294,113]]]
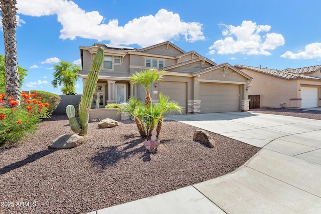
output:
[[[282,71],[235,65],[253,77],[249,95],[260,95],[260,107],[314,108],[321,106],[321,65]]]

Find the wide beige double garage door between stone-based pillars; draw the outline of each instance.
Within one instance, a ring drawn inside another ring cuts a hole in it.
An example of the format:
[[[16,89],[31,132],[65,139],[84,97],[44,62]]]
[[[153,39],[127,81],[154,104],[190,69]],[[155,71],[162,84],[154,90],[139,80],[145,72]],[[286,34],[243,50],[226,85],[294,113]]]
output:
[[[201,113],[239,111],[239,85],[201,83]]]

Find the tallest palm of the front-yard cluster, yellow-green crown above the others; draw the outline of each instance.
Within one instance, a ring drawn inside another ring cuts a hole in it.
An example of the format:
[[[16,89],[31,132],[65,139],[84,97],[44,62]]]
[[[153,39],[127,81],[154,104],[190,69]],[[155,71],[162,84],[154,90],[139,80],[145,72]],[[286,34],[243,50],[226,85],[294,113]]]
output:
[[[146,91],[145,105],[151,104],[151,97],[149,94],[149,88],[152,82],[160,80],[165,71],[158,71],[157,69],[145,69],[143,71],[136,72],[129,77],[133,84],[140,84]]]

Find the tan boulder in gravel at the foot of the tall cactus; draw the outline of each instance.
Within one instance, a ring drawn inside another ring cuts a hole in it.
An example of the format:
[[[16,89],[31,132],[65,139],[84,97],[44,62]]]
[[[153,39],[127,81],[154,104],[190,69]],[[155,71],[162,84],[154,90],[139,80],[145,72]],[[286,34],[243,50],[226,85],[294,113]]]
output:
[[[79,146],[84,140],[84,137],[78,134],[63,134],[52,141],[50,147],[54,149],[69,149]]]

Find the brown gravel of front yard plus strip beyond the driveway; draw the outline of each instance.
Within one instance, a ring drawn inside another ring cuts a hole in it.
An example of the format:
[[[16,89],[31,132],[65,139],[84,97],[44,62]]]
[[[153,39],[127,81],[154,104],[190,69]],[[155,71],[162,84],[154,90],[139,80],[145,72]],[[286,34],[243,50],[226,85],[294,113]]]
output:
[[[321,111],[298,111],[253,110],[321,119]],[[119,122],[90,122],[83,144],[59,150],[51,141],[73,132],[66,116],[54,115],[24,141],[0,147],[0,214],[87,213],[222,176],[259,151],[210,132],[216,146],[208,148],[192,140],[199,128],[165,121],[158,152],[148,153],[135,123]]]

